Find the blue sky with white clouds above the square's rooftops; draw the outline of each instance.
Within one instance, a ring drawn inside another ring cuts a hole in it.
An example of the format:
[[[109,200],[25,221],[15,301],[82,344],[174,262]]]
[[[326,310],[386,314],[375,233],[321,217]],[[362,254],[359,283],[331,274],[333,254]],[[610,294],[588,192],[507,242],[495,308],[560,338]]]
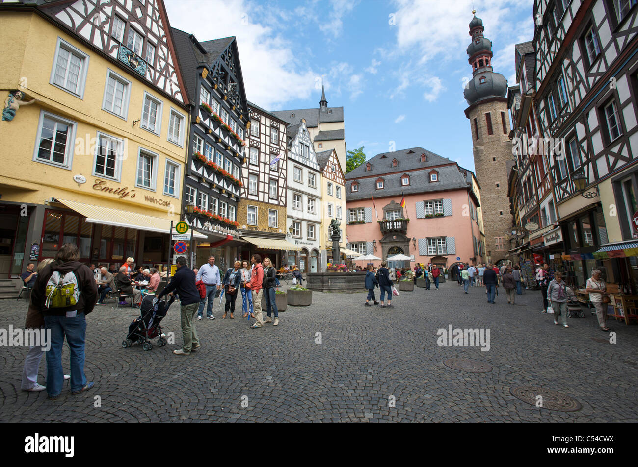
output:
[[[343,106],[348,150],[411,147],[474,169],[464,110],[471,11],[493,68],[516,85],[514,45],[533,40],[533,0],[165,0],[197,40],[235,36],[248,100],[266,110]]]

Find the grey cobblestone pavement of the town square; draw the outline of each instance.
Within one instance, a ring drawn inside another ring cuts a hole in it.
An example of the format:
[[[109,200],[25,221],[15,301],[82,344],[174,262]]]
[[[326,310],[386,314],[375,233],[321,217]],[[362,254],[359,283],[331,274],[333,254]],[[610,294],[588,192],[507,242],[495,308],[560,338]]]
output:
[[[154,340],[149,352],[121,347],[136,310],[98,307],[87,317],[94,389],[71,396],[65,383],[57,401],[20,391],[26,350],[0,347],[0,422],[638,422],[638,327],[612,321],[618,343],[603,343],[609,336],[590,313],[565,329],[540,313],[540,291],[510,306],[502,289],[496,305],[484,290],[417,288],[401,292],[394,310],[364,308],[365,292],[314,292],[313,305],[289,306],[278,327],[264,329],[249,329],[241,313],[222,320],[216,304],[217,319],[196,322],[202,348],[188,357],[172,354],[181,345],[178,303],[162,323],[175,344]],[[26,303],[0,301],[0,327],[24,326]],[[450,324],[490,329],[489,351],[438,347],[436,331]],[[443,364],[452,357],[493,368],[453,370]],[[63,365],[68,371],[66,346]],[[510,394],[521,385],[582,408],[529,405]]]

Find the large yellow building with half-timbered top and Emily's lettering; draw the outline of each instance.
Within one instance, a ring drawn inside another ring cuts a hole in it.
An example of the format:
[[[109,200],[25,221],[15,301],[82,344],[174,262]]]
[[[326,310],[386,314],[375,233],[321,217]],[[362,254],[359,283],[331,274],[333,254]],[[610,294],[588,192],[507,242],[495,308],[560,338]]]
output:
[[[37,99],[0,122],[0,278],[68,242],[96,264],[168,259],[189,125],[170,25],[161,0],[96,3],[0,5],[0,93]]]

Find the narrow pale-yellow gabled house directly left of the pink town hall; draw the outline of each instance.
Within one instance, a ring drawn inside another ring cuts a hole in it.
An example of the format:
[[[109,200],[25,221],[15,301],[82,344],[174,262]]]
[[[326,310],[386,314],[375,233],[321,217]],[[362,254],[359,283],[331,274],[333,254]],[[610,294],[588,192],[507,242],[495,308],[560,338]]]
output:
[[[332,258],[332,227],[330,223],[336,219],[341,226],[342,253],[346,247],[346,191],[345,178],[343,170],[339,163],[339,157],[336,150],[330,149],[323,152],[317,152],[317,163],[322,171],[322,222],[320,229],[322,268],[325,272],[325,266],[329,262],[342,262],[343,258]]]

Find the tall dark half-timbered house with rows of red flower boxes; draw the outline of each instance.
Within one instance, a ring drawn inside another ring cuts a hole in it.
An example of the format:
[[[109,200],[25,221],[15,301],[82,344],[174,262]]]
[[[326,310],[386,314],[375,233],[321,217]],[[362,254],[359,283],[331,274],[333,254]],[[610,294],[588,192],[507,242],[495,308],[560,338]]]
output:
[[[238,257],[237,209],[242,194],[248,101],[234,37],[200,42],[173,29],[191,106],[183,212],[209,236],[197,247],[197,264],[217,257],[219,268]]]

